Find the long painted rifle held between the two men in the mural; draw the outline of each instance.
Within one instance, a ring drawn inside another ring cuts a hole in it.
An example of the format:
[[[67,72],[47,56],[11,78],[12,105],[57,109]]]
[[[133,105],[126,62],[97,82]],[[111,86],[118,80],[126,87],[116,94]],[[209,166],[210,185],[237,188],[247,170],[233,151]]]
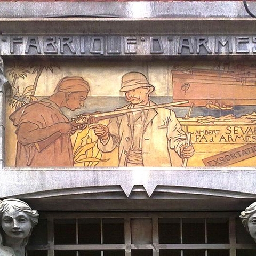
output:
[[[166,107],[171,107],[171,106],[181,105],[181,104],[186,104],[186,103],[188,103],[188,100],[171,102],[171,103],[163,103],[163,104],[140,107],[140,108],[122,109],[122,110],[117,109],[114,111],[99,113],[99,114],[85,113],[85,114],[78,115],[77,118],[72,119],[72,121],[70,121],[69,124],[73,125],[76,130],[83,130],[87,126],[88,118],[90,116],[94,116],[95,118],[97,118],[98,121],[100,121],[100,120],[105,120],[105,119],[109,119],[109,118],[122,116],[127,113],[149,110],[149,109],[156,109],[156,108],[166,108]],[[60,138],[61,135],[62,135],[62,133],[55,132],[49,138],[36,142],[35,145],[36,145],[38,151],[41,152],[43,149],[45,149],[47,146],[49,146],[52,142],[54,142],[55,140]]]

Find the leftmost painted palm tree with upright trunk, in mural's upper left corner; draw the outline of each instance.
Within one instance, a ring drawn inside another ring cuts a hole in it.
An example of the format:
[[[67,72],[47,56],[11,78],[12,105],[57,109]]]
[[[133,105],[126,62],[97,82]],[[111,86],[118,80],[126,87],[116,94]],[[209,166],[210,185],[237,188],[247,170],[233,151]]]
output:
[[[27,73],[29,74],[30,71],[27,69],[25,65],[22,65],[18,61],[15,61],[12,66],[7,67],[6,73],[13,78],[11,83],[11,95],[12,97],[14,97],[15,94],[19,92],[19,86],[16,86],[17,80],[19,78],[25,79],[25,77],[27,77]]]

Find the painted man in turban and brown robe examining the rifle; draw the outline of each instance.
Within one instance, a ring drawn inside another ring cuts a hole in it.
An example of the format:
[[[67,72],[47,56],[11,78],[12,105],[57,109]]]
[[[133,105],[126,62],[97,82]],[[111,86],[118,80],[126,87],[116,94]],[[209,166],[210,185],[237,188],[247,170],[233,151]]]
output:
[[[74,166],[70,134],[74,126],[60,108],[72,111],[84,106],[90,86],[82,77],[64,77],[54,94],[41,101],[31,102],[10,115],[17,126],[18,138],[15,166],[49,167]],[[50,145],[38,147],[54,133],[62,135]]]

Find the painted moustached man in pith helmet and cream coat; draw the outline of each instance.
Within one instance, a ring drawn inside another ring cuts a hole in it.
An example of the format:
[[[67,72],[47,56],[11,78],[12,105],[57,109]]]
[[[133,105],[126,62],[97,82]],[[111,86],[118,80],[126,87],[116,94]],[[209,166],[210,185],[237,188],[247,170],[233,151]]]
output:
[[[145,75],[130,72],[122,77],[121,92],[129,105],[121,109],[154,106],[149,94],[155,87]],[[108,126],[91,126],[99,137],[98,148],[111,152],[119,147],[119,166],[181,166],[194,148],[186,145],[186,134],[172,110],[156,108],[134,111],[110,119]]]

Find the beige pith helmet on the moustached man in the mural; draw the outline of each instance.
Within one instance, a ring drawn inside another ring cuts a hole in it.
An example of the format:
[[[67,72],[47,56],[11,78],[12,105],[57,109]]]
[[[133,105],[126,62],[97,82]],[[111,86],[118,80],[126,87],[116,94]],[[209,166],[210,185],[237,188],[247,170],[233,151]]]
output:
[[[149,84],[148,79],[145,75],[140,72],[129,72],[122,77],[122,88],[121,92],[131,91],[140,87],[149,86],[150,92],[155,90],[155,87]]]

